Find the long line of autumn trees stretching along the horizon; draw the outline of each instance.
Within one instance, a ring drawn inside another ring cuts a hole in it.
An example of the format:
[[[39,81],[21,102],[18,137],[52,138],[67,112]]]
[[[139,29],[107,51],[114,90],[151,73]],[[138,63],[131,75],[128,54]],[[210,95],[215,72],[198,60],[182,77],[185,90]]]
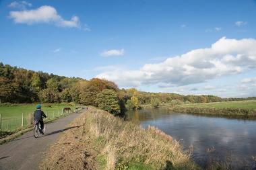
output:
[[[73,102],[95,105],[119,114],[126,109],[139,109],[143,104],[157,107],[161,103],[207,103],[223,100],[227,99],[214,95],[179,95],[149,93],[135,88],[119,89],[115,83],[105,79],[69,78],[11,67],[0,62],[0,103]]]

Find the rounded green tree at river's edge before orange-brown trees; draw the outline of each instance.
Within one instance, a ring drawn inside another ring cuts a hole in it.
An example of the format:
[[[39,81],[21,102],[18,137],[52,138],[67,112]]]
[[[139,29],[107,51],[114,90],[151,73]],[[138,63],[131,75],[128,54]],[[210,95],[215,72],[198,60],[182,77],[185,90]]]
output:
[[[96,103],[100,109],[111,114],[117,115],[121,112],[118,94],[113,89],[104,89],[98,93]]]

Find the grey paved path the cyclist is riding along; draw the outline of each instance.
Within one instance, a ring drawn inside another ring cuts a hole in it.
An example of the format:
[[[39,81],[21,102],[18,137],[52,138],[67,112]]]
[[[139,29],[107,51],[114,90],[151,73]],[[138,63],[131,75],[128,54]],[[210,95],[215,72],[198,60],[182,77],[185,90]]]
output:
[[[33,131],[15,138],[11,142],[0,145],[0,170],[3,169],[38,169],[38,164],[44,155],[44,151],[53,144],[59,134],[69,128],[65,128],[78,114],[70,114],[46,124],[46,134],[34,138]]]

